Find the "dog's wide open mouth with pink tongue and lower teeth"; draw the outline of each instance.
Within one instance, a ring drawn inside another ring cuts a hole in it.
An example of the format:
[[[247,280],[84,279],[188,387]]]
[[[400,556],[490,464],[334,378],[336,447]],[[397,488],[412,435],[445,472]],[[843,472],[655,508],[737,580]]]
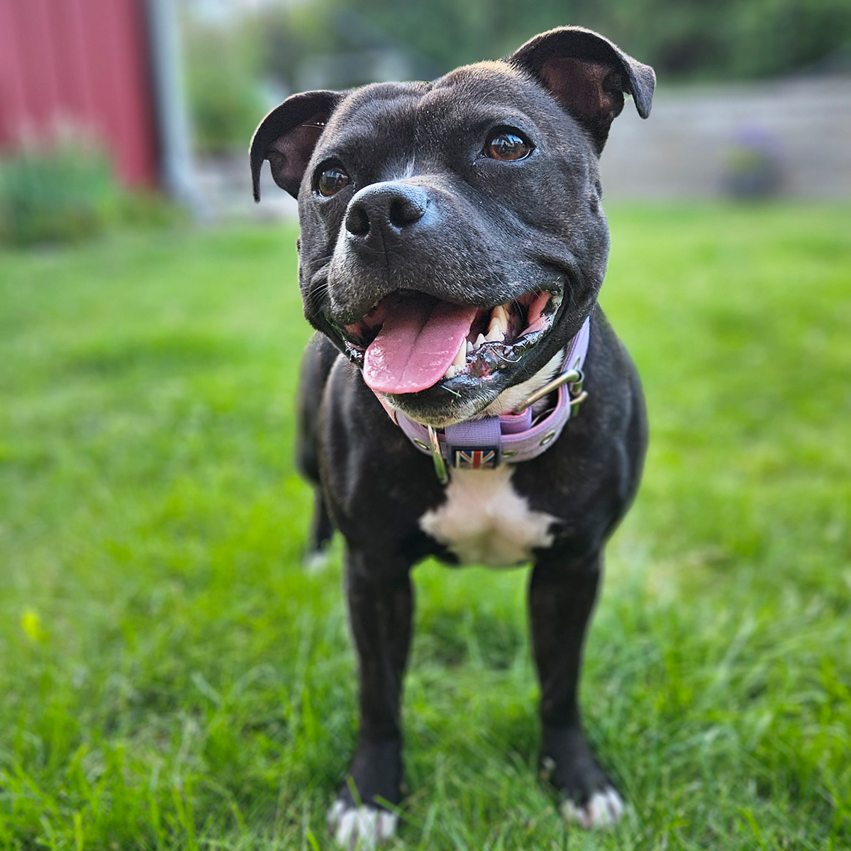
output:
[[[531,290],[476,307],[397,290],[339,330],[372,390],[417,393],[461,376],[487,379],[517,363],[550,330],[561,300],[559,293]]]

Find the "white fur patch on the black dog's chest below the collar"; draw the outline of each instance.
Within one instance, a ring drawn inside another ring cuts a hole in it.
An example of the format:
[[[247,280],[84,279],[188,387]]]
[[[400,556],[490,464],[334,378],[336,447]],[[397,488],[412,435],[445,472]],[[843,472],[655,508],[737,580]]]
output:
[[[528,562],[535,547],[552,544],[544,511],[532,511],[511,486],[514,468],[453,470],[446,502],[420,517],[420,528],[462,562],[510,567]]]

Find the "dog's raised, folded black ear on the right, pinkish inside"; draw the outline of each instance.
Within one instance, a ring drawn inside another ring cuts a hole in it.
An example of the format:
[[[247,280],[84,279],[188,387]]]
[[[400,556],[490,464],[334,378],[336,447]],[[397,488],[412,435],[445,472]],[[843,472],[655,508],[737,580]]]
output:
[[[585,129],[603,151],[608,128],[624,108],[624,93],[638,114],[650,114],[656,75],[608,38],[581,26],[542,32],[507,59],[528,71]]]

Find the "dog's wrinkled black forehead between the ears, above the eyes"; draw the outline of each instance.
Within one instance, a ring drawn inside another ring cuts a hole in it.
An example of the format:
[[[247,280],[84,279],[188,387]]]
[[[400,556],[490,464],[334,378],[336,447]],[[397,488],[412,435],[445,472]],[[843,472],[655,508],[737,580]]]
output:
[[[374,83],[334,111],[315,157],[423,152],[494,123],[523,129],[540,117],[540,100],[540,89],[504,62],[465,66],[433,83]]]

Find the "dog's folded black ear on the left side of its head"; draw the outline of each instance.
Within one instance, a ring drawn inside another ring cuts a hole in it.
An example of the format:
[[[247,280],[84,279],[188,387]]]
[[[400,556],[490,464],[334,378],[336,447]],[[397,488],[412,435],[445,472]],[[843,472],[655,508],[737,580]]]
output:
[[[342,92],[294,94],[276,106],[254,130],[248,157],[254,201],[260,201],[260,168],[269,160],[271,176],[296,197],[301,178],[325,123],[343,98]]]

